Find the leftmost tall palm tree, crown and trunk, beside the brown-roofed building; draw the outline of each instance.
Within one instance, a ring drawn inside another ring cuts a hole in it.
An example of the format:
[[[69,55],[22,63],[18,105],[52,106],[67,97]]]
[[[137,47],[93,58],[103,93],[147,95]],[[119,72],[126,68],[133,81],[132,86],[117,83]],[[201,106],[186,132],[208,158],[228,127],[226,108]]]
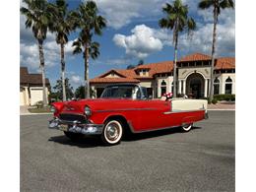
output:
[[[43,106],[47,106],[47,97],[45,89],[45,69],[43,56],[43,40],[46,38],[49,21],[51,20],[51,13],[48,11],[48,3],[46,0],[24,0],[26,7],[20,9],[21,13],[25,15],[27,21],[26,28],[31,28],[34,38],[36,38],[39,50],[39,60],[42,76],[42,98]]]

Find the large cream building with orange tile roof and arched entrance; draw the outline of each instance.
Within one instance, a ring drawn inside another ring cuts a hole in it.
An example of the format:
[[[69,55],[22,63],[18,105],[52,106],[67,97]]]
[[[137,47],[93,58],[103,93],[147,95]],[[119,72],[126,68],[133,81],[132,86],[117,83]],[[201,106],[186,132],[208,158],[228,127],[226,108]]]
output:
[[[177,61],[177,93],[191,97],[209,96],[211,56],[202,53],[186,55]],[[140,65],[134,69],[112,69],[90,81],[100,96],[110,84],[135,83],[146,87],[148,95],[160,97],[173,92],[173,62],[164,61]],[[215,61],[214,94],[235,94],[235,58],[220,57]]]

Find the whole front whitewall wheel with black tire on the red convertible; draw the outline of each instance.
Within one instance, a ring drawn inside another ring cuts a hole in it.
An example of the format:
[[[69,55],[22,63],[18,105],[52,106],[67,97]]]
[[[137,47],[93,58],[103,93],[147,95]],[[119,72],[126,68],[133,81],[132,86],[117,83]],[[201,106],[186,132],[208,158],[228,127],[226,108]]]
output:
[[[108,120],[103,128],[101,140],[106,145],[119,144],[123,136],[123,125],[119,120]]]

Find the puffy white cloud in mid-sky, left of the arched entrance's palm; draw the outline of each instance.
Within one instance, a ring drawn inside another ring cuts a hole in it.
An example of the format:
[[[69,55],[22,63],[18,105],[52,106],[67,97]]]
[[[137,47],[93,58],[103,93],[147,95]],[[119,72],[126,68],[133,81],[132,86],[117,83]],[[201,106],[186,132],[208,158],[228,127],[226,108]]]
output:
[[[117,46],[125,48],[126,55],[145,58],[153,52],[160,51],[163,44],[168,44],[170,35],[166,31],[136,26],[131,35],[115,34],[113,41]]]

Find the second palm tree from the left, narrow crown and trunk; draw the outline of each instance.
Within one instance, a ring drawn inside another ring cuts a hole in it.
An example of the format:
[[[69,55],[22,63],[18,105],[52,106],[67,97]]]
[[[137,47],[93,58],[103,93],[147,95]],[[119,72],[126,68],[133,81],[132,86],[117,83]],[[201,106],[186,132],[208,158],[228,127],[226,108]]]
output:
[[[68,35],[72,31],[72,21],[69,18],[68,4],[65,0],[56,0],[55,4],[49,4],[54,17],[50,23],[50,31],[56,32],[56,42],[60,44],[60,63],[61,63],[61,80],[62,80],[62,99],[66,100],[65,86],[65,59],[64,48],[68,42]]]

